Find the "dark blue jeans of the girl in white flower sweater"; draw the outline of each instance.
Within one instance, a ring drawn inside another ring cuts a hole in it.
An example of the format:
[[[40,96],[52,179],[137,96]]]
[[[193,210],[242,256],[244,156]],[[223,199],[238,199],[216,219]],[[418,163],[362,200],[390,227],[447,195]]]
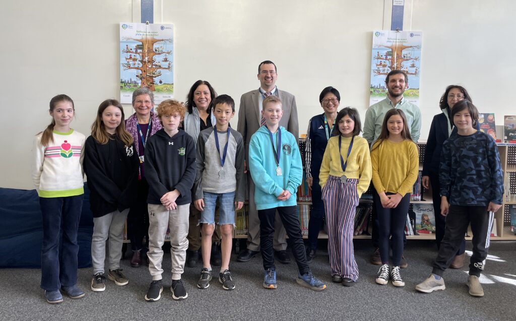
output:
[[[43,216],[41,288],[59,290],[77,282],[77,230],[84,195],[39,198]]]

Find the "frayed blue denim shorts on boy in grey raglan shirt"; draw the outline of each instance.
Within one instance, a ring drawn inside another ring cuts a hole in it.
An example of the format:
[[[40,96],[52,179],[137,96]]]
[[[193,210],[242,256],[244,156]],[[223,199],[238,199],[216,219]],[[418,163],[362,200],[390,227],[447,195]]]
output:
[[[210,193],[204,192],[204,211],[201,212],[199,223],[215,224],[215,206],[219,201],[219,225],[235,225],[235,192]]]

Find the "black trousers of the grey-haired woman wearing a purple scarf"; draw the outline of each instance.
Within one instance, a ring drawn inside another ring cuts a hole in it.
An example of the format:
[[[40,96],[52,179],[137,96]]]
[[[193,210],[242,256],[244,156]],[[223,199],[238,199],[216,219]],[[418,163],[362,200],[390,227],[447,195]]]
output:
[[[143,248],[143,236],[149,242],[149,209],[147,207],[149,184],[145,178],[138,180],[137,190],[138,196],[127,215],[127,236],[131,240],[133,251]]]

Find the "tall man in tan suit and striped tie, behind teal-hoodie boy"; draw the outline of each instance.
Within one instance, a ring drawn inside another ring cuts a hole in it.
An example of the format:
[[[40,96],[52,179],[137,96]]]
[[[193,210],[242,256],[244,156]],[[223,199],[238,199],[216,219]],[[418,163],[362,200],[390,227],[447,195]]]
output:
[[[280,126],[285,127],[295,137],[299,137],[296,98],[293,94],[279,90],[276,87],[278,73],[274,62],[266,60],[260,63],[258,66],[258,79],[260,81],[260,88],[243,94],[240,98],[240,108],[238,110],[237,131],[244,138],[246,158],[249,153],[251,136],[265,123],[262,119],[261,111],[262,102],[268,95],[275,95],[281,100],[283,117],[281,118]],[[247,185],[249,188],[249,232],[247,236],[247,249],[238,254],[237,260],[240,262],[251,260],[260,251],[260,219],[254,204],[255,187],[249,171],[247,174]],[[275,226],[273,248],[275,249],[276,258],[281,263],[289,263],[290,257],[286,252],[285,228],[277,213]]]

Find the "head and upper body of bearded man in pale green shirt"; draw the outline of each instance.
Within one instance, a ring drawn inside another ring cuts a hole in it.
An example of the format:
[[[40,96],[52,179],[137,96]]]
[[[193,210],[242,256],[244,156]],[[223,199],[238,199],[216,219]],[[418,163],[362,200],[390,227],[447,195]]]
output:
[[[407,74],[401,70],[391,71],[385,77],[385,86],[389,93],[384,100],[371,105],[365,113],[364,134],[362,135],[369,146],[380,136],[385,114],[389,109],[398,108],[407,116],[407,125],[410,129],[412,140],[417,142],[421,130],[421,110],[414,104],[403,98],[405,89],[409,87]]]

